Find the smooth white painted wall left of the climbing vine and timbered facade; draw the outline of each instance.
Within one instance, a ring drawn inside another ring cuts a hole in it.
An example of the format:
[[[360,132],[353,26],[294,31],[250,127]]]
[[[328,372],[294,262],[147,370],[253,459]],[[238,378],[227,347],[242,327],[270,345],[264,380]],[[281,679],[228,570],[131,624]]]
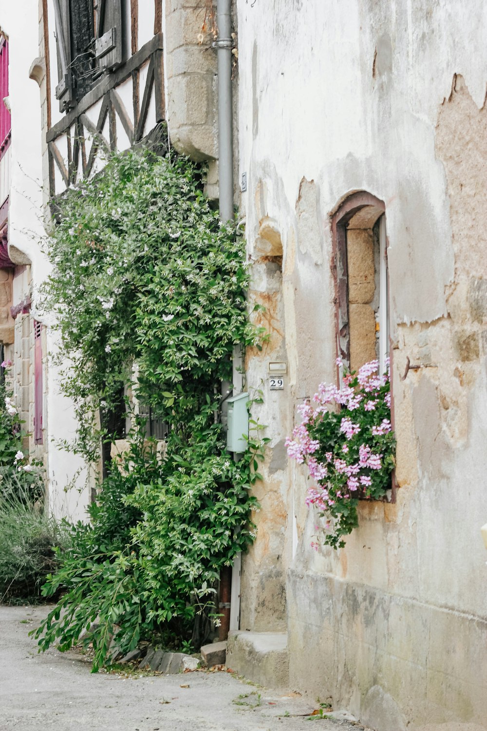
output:
[[[50,2],[52,7],[52,2]],[[18,4],[1,0],[1,29],[9,39],[9,99],[12,110],[11,185],[9,190],[9,244],[15,246],[31,261],[23,276],[14,279],[13,302],[19,303],[34,292],[31,314],[46,322],[45,314],[37,311],[35,295],[50,270],[47,257],[42,253],[46,232],[43,221],[42,191],[42,121],[39,86],[29,78],[34,58],[39,56],[39,3],[26,0],[22,12]],[[51,42],[54,53],[55,41]],[[56,82],[57,83],[57,80]],[[57,108],[58,104],[56,102]],[[53,105],[53,110],[55,105]],[[53,115],[55,121],[55,114]],[[29,281],[30,279],[30,281]],[[55,349],[55,331],[47,331],[47,353]],[[58,376],[49,355],[47,357],[47,384],[45,384],[45,448],[47,450],[47,479],[50,508],[55,515],[85,518],[89,491],[85,488],[83,461],[58,447],[61,439],[74,436],[73,409],[60,394]],[[32,362],[33,363],[33,362]],[[34,372],[31,363],[31,374]],[[32,425],[28,425],[32,428]],[[76,482],[76,485],[73,484]],[[66,492],[66,487],[69,487]]]

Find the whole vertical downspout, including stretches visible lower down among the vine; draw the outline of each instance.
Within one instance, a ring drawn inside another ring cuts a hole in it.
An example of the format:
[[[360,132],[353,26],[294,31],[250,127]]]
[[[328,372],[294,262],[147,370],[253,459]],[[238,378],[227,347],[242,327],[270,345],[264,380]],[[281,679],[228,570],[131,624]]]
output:
[[[231,90],[231,0],[217,0],[218,39],[218,195],[221,221],[234,221],[234,145]],[[222,384],[223,392],[231,384]],[[226,393],[223,393],[225,396]],[[231,568],[220,573],[219,612],[220,640],[226,640],[230,629]]]

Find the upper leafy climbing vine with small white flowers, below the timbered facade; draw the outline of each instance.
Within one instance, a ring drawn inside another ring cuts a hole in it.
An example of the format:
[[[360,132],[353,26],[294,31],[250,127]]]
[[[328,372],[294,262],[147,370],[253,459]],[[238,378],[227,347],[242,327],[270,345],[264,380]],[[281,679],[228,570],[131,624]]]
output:
[[[246,314],[242,242],[221,225],[199,178],[186,159],[129,151],[61,204],[45,304],[58,317],[61,360],[69,357],[63,387],[88,458],[99,446],[97,409],[118,404],[134,362],[138,398],[191,431],[218,408],[234,344],[258,337]]]

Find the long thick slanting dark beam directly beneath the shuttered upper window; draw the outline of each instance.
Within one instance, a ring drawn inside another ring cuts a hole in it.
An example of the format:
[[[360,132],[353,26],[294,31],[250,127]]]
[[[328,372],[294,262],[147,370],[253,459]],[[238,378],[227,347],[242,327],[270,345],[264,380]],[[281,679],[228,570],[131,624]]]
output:
[[[74,124],[74,121],[77,117],[82,115],[90,107],[93,107],[93,105],[96,104],[99,99],[107,94],[107,91],[115,88],[123,81],[128,79],[132,72],[140,69],[140,67],[145,64],[145,61],[147,61],[147,58],[150,58],[150,56],[152,56],[154,51],[162,49],[162,33],[158,33],[156,36],[150,39],[150,41],[145,43],[142,48],[134,54],[134,56],[131,56],[129,60],[126,61],[125,64],[123,64],[123,66],[115,69],[115,71],[112,71],[110,74],[102,76],[99,80],[99,83],[97,83],[96,86],[91,89],[91,91],[88,91],[88,94],[85,94],[85,96],[83,96],[83,99],[80,99],[80,102],[74,107],[74,109],[72,109],[68,114],[64,116],[64,118],[62,118],[50,128],[50,130],[47,132],[47,142],[52,142],[56,139],[56,137],[64,135],[66,129],[69,129],[69,127]]]

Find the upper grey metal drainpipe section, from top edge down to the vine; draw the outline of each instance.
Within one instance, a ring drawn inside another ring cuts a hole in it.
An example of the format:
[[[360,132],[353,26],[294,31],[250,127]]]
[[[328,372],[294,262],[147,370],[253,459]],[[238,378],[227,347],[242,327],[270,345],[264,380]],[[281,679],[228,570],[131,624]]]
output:
[[[217,2],[218,183],[220,218],[234,220],[234,145],[231,101],[231,0]]]

